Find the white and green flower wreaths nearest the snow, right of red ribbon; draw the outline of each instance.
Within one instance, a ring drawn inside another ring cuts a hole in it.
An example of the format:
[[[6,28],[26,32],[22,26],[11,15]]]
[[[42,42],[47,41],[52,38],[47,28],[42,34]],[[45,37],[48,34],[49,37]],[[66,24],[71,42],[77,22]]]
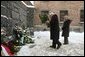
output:
[[[29,30],[23,30],[22,28],[18,28],[16,31],[17,31],[16,35],[18,35],[18,36],[15,39],[16,40],[15,44],[17,46],[22,46],[22,45],[25,45],[26,43],[33,43]],[[16,35],[14,35],[14,36],[16,36]]]

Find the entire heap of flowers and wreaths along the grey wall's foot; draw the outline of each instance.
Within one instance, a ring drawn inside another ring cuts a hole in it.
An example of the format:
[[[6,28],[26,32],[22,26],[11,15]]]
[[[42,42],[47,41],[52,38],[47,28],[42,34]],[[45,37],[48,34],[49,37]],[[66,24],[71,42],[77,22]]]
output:
[[[34,43],[32,37],[27,34],[27,31],[24,32],[23,30],[20,30],[18,33],[22,35],[22,37],[20,37],[20,34],[18,35],[19,39],[7,36],[4,30],[1,30],[1,45],[6,48],[7,52],[11,55],[16,54],[23,44]]]

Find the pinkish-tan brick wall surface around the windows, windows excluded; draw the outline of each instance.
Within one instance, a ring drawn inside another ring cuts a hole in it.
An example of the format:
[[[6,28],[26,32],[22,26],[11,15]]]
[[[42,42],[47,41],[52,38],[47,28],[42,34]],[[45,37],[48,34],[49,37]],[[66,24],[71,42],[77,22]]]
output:
[[[56,12],[60,20],[60,10],[68,10],[73,20],[71,25],[80,25],[80,10],[84,10],[84,1],[35,1],[35,24],[40,25],[39,14],[41,10]]]

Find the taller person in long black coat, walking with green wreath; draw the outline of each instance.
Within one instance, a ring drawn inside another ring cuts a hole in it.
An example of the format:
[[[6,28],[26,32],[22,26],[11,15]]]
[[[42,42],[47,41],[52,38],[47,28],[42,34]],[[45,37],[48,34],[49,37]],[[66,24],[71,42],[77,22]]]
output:
[[[59,31],[60,31],[60,28],[59,28],[59,22],[58,22],[58,16],[56,14],[54,14],[52,17],[51,17],[51,21],[50,21],[50,37],[51,37],[51,40],[53,40],[52,42],[52,48],[56,48],[56,44],[58,44],[57,46],[57,49],[60,48],[61,46],[61,43],[59,42]]]

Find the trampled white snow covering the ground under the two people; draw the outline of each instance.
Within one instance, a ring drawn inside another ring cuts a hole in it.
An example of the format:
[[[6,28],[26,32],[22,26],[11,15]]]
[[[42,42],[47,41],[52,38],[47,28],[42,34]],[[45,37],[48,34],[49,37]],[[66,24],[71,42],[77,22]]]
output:
[[[84,56],[84,32],[71,31],[68,45],[63,45],[64,39],[61,34],[62,32],[60,32],[62,46],[57,50],[49,47],[52,45],[49,31],[35,31],[35,43],[23,46],[17,56]]]

